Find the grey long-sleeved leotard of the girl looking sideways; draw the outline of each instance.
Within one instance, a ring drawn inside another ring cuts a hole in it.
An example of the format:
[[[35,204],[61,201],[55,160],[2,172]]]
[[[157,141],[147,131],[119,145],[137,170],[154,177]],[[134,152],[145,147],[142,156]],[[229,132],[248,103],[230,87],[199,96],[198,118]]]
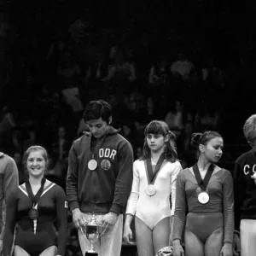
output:
[[[214,230],[223,228],[222,242],[232,243],[234,197],[230,172],[220,169],[212,173],[207,186],[210,200],[204,205],[198,201],[197,188],[198,184],[191,170],[185,169],[178,174],[173,239],[181,240],[185,214],[188,211],[186,229],[193,232],[202,242],[205,242]]]

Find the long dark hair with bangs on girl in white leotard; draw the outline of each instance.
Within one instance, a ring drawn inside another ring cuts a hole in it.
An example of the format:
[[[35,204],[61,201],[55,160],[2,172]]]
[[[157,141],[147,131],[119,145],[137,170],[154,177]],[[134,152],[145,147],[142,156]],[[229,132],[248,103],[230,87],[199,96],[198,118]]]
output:
[[[176,149],[176,137],[172,131],[169,130],[168,125],[160,120],[151,121],[144,131],[144,145],[143,145],[143,156],[141,160],[145,160],[150,157],[151,152],[147,143],[148,134],[162,135],[163,137],[169,136],[168,142],[166,142],[166,147],[164,149],[164,154],[166,154],[166,160],[170,162],[175,162],[177,160],[177,149]]]

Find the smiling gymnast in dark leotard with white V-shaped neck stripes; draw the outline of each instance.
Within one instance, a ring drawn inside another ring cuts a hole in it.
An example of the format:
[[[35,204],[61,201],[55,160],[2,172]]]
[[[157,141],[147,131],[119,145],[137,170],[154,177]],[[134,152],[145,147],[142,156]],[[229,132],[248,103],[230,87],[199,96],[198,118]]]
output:
[[[7,202],[3,255],[11,255],[16,226],[15,256],[64,256],[67,242],[65,192],[44,177],[48,166],[45,148],[28,148],[23,162],[29,178]]]

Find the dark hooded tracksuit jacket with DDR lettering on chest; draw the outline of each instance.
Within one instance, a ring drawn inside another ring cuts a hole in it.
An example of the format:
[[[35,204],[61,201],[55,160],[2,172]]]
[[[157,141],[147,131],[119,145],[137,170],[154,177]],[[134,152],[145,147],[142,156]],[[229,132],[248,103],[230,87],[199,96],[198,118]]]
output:
[[[118,130],[110,127],[108,135],[91,147],[85,134],[73,142],[68,156],[67,201],[72,211],[121,213],[131,192],[133,151]],[[88,162],[97,161],[91,171]]]

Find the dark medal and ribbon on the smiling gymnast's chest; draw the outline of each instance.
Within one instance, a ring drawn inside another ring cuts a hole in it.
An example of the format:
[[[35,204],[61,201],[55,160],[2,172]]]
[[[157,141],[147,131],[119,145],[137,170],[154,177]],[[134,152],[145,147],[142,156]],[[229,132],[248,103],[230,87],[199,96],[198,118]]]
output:
[[[38,189],[38,193],[36,195],[33,195],[30,182],[29,181],[26,182],[26,191],[30,200],[32,201],[32,207],[28,212],[28,217],[32,220],[38,219],[38,216],[39,216],[37,205],[38,205],[38,200],[44,191],[44,183],[45,183],[45,177],[42,178],[41,187],[40,189]]]

